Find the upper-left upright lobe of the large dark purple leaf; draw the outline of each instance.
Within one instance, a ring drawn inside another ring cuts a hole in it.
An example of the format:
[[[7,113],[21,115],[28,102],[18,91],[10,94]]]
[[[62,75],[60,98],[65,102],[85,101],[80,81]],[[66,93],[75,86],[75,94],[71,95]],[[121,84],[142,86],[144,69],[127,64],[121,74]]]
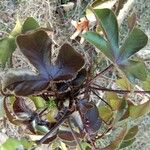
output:
[[[33,33],[19,35],[17,37],[17,44],[21,52],[38,69],[39,73],[48,75],[46,70],[50,66],[52,42],[47,33],[39,30]]]

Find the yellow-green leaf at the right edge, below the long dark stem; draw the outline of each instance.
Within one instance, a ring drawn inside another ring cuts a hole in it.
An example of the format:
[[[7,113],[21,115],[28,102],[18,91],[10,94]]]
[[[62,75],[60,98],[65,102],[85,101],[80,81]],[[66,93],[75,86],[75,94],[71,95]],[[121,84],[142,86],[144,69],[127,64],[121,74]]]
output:
[[[145,114],[150,112],[150,101],[147,101],[140,105],[132,105],[130,106],[130,116],[134,119],[139,118]]]

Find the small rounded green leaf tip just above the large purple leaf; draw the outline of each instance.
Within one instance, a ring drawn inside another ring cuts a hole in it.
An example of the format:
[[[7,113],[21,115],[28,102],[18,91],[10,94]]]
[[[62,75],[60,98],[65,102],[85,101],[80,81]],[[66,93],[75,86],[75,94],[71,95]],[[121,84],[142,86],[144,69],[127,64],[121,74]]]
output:
[[[22,26],[22,32],[25,33],[30,30],[39,28],[38,22],[33,17],[28,17]]]

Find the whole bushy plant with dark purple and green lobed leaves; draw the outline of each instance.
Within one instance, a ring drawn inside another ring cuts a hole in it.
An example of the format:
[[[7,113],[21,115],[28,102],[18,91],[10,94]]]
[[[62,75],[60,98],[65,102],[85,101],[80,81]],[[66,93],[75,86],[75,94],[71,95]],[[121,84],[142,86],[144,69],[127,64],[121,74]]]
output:
[[[96,149],[96,141],[105,138],[110,130],[123,122],[122,131],[102,150],[122,149],[135,141],[138,132],[138,126],[129,128],[126,125],[128,118],[149,113],[149,101],[135,105],[128,98],[131,90],[133,93],[150,93],[138,91],[131,85],[135,79],[146,80],[148,74],[142,61],[130,58],[146,45],[147,36],[133,28],[119,46],[114,13],[109,9],[92,11],[103,34],[88,31],[82,36],[108,59],[110,65],[102,71],[94,68],[95,56],[85,57],[86,54],[77,52],[67,43],[59,48],[54,58],[53,41],[38,25],[35,30],[31,28],[31,31],[16,36],[16,44],[34,69],[10,69],[5,73],[1,81],[4,109],[11,123],[24,124],[28,134],[42,136],[36,144],[53,144],[56,139],[61,139],[69,147],[78,145],[78,149]],[[112,72],[114,67],[119,77],[114,82],[123,90],[109,89],[96,81],[107,71]],[[106,100],[99,91],[105,92]],[[93,101],[95,96],[103,101],[100,106]]]

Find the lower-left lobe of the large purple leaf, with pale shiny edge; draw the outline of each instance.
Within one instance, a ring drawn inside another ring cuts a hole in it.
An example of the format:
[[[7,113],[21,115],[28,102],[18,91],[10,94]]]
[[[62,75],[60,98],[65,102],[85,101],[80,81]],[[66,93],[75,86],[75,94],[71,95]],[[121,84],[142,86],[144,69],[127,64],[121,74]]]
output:
[[[48,86],[48,81],[43,76],[37,76],[30,71],[9,71],[3,79],[3,91],[9,90],[16,95],[27,96],[42,92]]]

